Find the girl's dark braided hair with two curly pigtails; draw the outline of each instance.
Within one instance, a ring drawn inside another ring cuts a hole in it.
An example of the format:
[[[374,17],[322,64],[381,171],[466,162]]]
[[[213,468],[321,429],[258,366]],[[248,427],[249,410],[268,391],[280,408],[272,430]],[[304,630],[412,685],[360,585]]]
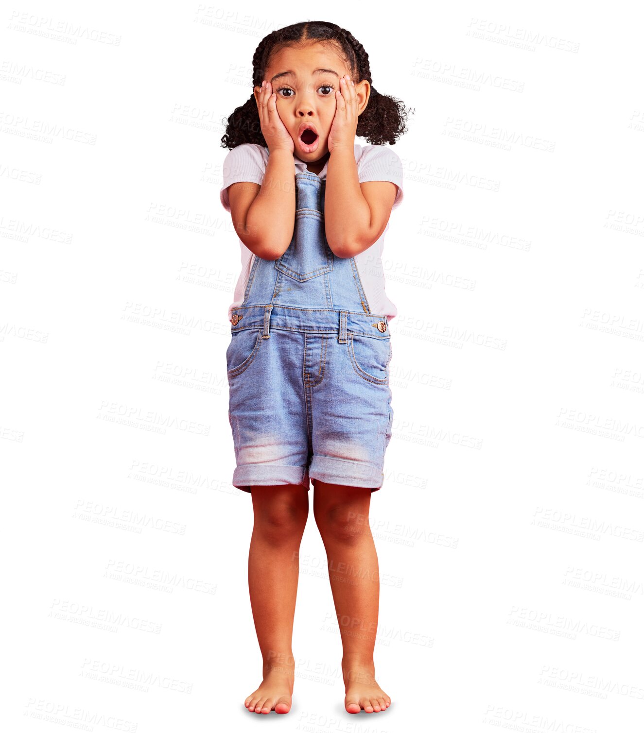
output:
[[[364,46],[347,30],[335,23],[309,21],[294,23],[277,29],[263,37],[253,56],[252,85],[261,86],[264,73],[272,56],[281,48],[319,41],[334,45],[351,70],[354,81],[366,80],[371,84],[369,54]],[[406,132],[407,112],[402,101],[389,95],[382,95],[371,86],[369,101],[358,117],[356,136],[364,137],[372,145],[390,143],[395,145],[396,138]],[[227,118],[226,133],[222,137],[222,147],[232,150],[243,143],[250,142],[268,147],[260,126],[255,95],[233,111]]]

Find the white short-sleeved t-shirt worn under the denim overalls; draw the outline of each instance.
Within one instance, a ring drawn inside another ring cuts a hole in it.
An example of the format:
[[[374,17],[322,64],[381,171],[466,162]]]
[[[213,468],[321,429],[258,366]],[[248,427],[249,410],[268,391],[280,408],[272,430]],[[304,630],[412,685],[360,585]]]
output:
[[[391,181],[395,183],[398,186],[398,192],[393,208],[400,206],[403,200],[403,164],[398,155],[386,145],[356,144],[354,145],[354,153],[356,155],[359,183],[365,183],[366,181]],[[310,172],[307,169],[307,163],[301,161],[296,155],[293,155],[293,159],[296,173]],[[267,164],[268,148],[263,147],[263,145],[246,142],[228,151],[226,158],[224,158],[224,185],[219,194],[225,210],[230,212],[228,186],[239,181],[249,181],[261,185]],[[328,161],[318,174],[319,177],[326,178],[327,165]],[[389,222],[387,222],[380,238],[365,251],[356,254],[354,259],[371,312],[385,315],[388,320],[392,320],[398,314],[398,309],[384,292],[384,271],[381,260],[384,235],[387,234],[388,229]],[[239,246],[241,247],[241,273],[235,286],[235,299],[228,308],[228,320],[233,316],[233,309],[241,306],[244,302],[246,284],[248,284],[252,263],[255,259],[255,254],[241,240],[239,240]]]

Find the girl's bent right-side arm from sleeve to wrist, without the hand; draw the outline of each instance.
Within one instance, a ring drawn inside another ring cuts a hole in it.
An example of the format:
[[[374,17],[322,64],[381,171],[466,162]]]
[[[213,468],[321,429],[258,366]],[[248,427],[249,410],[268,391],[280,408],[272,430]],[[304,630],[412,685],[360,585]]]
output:
[[[387,226],[397,193],[398,186],[390,181],[359,183],[353,148],[334,148],[326,167],[324,194],[324,227],[333,254],[354,257],[376,242]]]

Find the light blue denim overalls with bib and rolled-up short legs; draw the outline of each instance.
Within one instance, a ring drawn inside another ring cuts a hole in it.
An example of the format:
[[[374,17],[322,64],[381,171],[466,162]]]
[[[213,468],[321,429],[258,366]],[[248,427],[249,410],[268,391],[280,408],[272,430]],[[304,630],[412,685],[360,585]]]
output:
[[[295,183],[290,246],[277,260],[255,257],[233,309],[233,485],[319,479],[375,491],[393,419],[387,317],[370,312],[355,259],[326,242],[326,180],[306,172]]]

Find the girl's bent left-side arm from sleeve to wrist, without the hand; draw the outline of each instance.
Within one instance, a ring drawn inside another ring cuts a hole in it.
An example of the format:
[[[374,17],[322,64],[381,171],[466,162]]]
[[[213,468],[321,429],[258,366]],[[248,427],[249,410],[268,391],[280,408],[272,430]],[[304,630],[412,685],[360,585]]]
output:
[[[228,197],[233,226],[246,247],[262,259],[282,257],[295,229],[293,153],[271,152],[262,185],[233,183]]]

